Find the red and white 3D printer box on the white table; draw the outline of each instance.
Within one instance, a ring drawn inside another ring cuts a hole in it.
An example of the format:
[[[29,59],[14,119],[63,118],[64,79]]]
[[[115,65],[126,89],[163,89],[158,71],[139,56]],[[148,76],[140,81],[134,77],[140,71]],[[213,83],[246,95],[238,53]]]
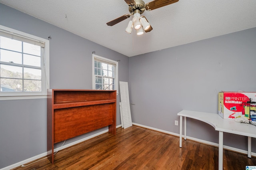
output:
[[[254,111],[248,109],[250,101],[256,102],[256,92],[221,91],[218,94],[218,114],[223,119],[249,118],[249,114],[254,115]]]

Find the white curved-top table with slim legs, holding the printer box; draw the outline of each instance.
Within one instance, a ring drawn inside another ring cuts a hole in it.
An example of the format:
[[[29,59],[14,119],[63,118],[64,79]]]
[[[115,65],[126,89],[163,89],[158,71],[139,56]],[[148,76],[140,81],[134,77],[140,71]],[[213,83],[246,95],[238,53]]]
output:
[[[256,126],[238,123],[231,119],[223,119],[217,113],[205,113],[197,111],[183,110],[178,113],[180,116],[180,148],[182,147],[182,117],[184,117],[184,139],[186,140],[186,118],[197,119],[212,125],[215,130],[219,131],[219,170],[223,169],[223,132],[248,136],[248,157],[252,154],[252,137],[256,138]]]

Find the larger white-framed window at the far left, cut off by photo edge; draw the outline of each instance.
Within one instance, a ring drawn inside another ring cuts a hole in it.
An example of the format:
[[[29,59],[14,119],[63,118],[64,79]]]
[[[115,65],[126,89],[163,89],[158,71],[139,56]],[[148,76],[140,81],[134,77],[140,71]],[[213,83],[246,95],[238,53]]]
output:
[[[49,40],[0,26],[0,100],[46,97],[48,66]]]

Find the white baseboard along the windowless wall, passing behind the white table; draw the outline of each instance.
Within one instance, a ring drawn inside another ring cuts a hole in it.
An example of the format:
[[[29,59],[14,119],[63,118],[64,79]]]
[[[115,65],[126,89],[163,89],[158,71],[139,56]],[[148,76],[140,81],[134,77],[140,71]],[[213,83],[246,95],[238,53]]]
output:
[[[178,137],[180,137],[180,134],[178,134],[178,133],[168,132],[168,131],[166,131],[166,130],[161,130],[161,129],[158,129],[158,128],[152,128],[152,127],[140,125],[140,124],[137,124],[137,123],[132,123],[132,125],[136,125],[136,126],[139,126],[139,127],[144,127],[144,128],[148,128],[148,129],[151,129],[151,130],[156,130],[156,131],[158,131],[158,132],[163,132],[163,133],[166,133],[166,134],[171,134],[171,135],[173,135],[173,136],[178,136]],[[182,135],[182,137],[184,138],[184,135]],[[187,138],[187,139],[190,139],[190,140],[194,140],[194,141],[196,141],[196,142],[200,142],[200,143],[204,143],[204,144],[209,144],[209,145],[216,146],[216,147],[219,146],[218,143],[209,142],[209,141],[207,141],[207,140],[201,140],[201,139],[193,138],[193,137],[190,137],[190,136],[186,136],[186,138]],[[242,154],[248,154],[248,151],[247,151],[247,150],[242,150],[242,149],[238,149],[238,148],[233,148],[233,147],[226,146],[226,145],[223,145],[223,148],[224,148],[224,149],[228,149],[228,150],[232,150],[232,151],[234,151],[234,152],[239,152],[239,153],[242,153]],[[252,152],[252,156],[256,156],[256,153]]]

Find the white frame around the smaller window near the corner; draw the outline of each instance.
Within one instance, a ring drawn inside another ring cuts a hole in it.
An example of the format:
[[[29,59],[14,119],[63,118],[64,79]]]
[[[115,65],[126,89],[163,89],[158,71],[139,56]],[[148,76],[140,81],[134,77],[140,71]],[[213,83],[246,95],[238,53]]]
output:
[[[114,60],[111,60],[111,59],[108,59],[108,58],[105,58],[105,57],[101,57],[101,56],[98,56],[98,55],[95,55],[95,54],[92,54],[92,89],[96,89],[96,80],[95,80],[95,75],[94,75],[94,61],[95,61],[95,58],[98,58],[98,59],[101,59],[101,60],[105,60],[106,62],[110,62],[110,63],[114,63],[116,64],[116,69],[115,69],[115,85],[114,85],[114,90],[116,90],[116,95],[118,95],[118,62],[117,61],[114,61]]]

